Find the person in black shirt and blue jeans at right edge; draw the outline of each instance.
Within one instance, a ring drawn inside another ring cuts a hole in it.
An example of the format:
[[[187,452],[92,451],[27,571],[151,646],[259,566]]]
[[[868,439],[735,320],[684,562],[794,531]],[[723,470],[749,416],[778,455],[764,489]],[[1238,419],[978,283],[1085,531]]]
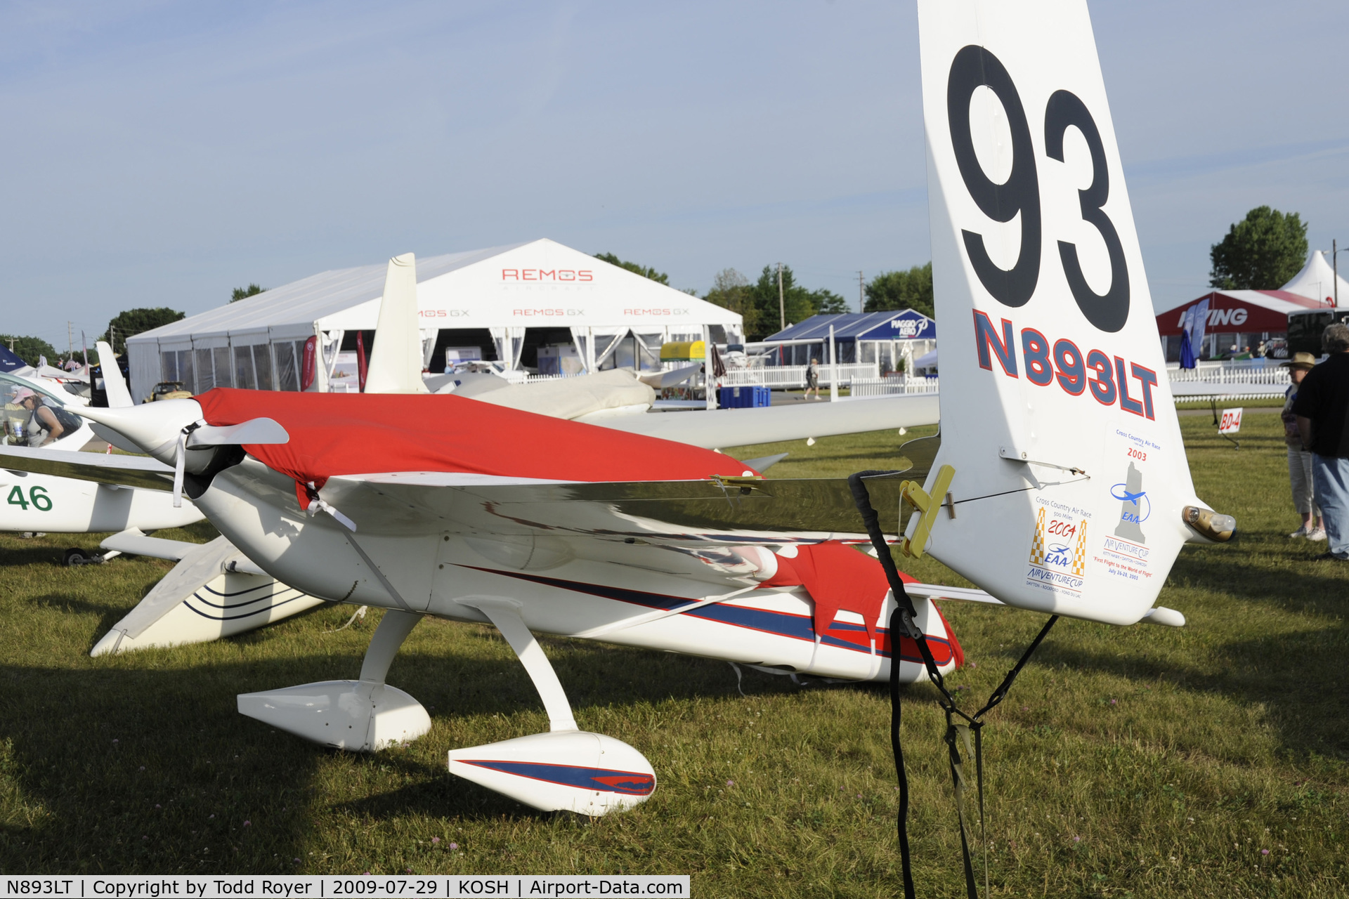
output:
[[[1292,414],[1311,450],[1311,481],[1329,549],[1318,559],[1349,562],[1349,326],[1336,322],[1321,338],[1329,356],[1303,377]]]

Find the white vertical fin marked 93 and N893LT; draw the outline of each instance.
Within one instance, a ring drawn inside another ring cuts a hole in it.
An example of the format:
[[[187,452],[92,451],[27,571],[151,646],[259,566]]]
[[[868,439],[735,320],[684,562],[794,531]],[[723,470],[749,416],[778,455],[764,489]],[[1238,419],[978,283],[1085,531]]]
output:
[[[955,476],[913,549],[1009,605],[1130,624],[1195,500],[1086,3],[920,0],[919,24],[943,328],[928,489]]]

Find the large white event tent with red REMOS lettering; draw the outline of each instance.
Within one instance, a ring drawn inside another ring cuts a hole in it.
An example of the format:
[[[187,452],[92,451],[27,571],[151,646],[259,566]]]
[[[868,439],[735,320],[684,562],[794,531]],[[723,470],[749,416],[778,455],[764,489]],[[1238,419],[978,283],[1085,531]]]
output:
[[[386,263],[343,268],[127,338],[131,390],[155,383],[299,390],[305,341],[332,375],[366,332],[368,352]],[[484,359],[545,372],[660,368],[669,341],[739,342],[741,315],[552,240],[417,260],[422,367]]]

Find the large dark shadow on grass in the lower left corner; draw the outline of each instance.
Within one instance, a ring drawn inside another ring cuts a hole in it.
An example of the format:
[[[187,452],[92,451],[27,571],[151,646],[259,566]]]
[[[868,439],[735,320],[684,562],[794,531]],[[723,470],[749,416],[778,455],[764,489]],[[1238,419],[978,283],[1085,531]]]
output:
[[[314,755],[235,712],[258,673],[0,667],[4,779],[35,810],[0,830],[0,869],[291,869]]]

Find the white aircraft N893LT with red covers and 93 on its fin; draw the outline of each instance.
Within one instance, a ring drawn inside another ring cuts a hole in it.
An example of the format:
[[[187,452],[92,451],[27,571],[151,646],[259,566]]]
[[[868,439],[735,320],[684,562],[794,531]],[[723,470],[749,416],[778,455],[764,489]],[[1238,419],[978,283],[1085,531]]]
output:
[[[920,26],[946,415],[921,487],[854,476],[890,516],[889,534],[871,516],[873,545],[931,553],[1012,607],[1183,624],[1157,592],[1184,542],[1234,522],[1195,497],[1159,376],[1086,7],[924,0]],[[411,257],[391,260],[382,321],[415,309],[414,290]],[[649,797],[654,771],[577,728],[534,631],[892,685],[956,664],[928,597],[983,597],[905,588],[849,549],[869,535],[847,481],[769,481],[650,435],[696,431],[684,415],[623,416],[638,427],[615,434],[417,395],[402,356],[390,392],[406,395],[216,390],[84,411],[174,465],[175,489],[260,570],[387,609],[359,681],[244,694],[244,714],[341,748],[413,739],[429,717],[384,683],[397,648],[424,616],[490,621],[550,731],[455,749],[451,771],[603,814]],[[901,495],[916,508],[902,538]]]

